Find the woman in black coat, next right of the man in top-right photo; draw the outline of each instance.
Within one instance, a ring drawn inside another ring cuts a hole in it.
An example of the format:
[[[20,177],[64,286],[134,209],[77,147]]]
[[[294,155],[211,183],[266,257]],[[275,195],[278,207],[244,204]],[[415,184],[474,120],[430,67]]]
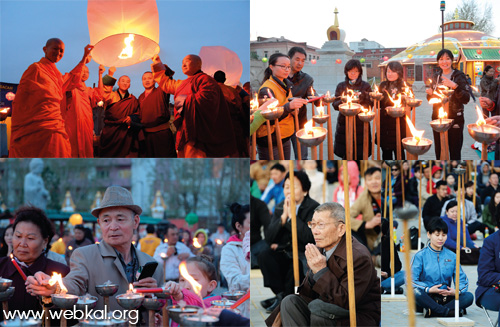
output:
[[[337,85],[335,90],[335,96],[339,97],[342,94],[347,94],[347,90],[354,91],[354,94],[359,98],[359,104],[361,104],[365,109],[372,106],[372,101],[370,100],[369,93],[371,92],[370,84],[361,79],[363,75],[363,68],[361,67],[361,62],[356,59],[349,60],[344,67],[345,81]],[[339,110],[339,106],[342,104],[341,99],[333,101],[333,108]],[[356,144],[357,144],[357,158],[363,158],[363,128],[364,123],[359,120],[356,116]],[[335,145],[334,152],[337,156],[342,159],[346,159],[346,128],[345,128],[345,116],[339,114],[337,118],[337,128],[335,129]],[[368,140],[368,156],[371,155],[371,133]],[[354,142],[354,141],[353,141]]]

